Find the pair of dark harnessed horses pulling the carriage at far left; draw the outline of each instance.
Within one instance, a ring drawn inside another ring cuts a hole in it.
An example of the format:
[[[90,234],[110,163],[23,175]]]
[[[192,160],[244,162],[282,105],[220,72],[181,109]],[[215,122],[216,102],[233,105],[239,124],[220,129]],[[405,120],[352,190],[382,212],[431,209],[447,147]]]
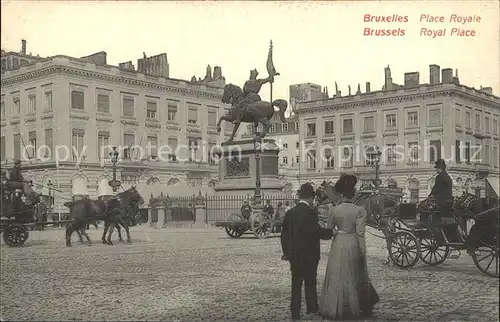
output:
[[[132,187],[116,195],[110,200],[77,200],[70,205],[71,224],[66,227],[66,245],[71,246],[71,235],[77,232],[85,236],[90,244],[90,238],[86,232],[87,223],[102,220],[104,222],[104,232],[102,242],[113,245],[111,236],[114,227],[122,226],[127,233],[127,240],[130,242],[128,213],[131,209],[136,209],[138,205],[144,203],[139,192]],[[108,233],[109,231],[109,233]],[[106,239],[106,233],[108,238]]]

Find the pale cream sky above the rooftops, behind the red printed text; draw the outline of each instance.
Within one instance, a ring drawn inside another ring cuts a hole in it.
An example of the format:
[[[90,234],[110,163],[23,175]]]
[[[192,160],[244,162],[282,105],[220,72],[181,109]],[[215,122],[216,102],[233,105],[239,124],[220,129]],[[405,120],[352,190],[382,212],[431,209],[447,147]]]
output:
[[[289,85],[334,84],[347,93],[358,83],[379,90],[384,67],[393,81],[429,65],[458,69],[462,84],[493,87],[500,94],[498,1],[391,2],[57,2],[2,1],[1,47],[19,51],[21,39],[34,55],[86,56],[106,51],[117,65],[167,53],[170,77],[204,77],[208,64],[221,66],[227,83],[242,86],[257,68],[266,77],[269,41],[274,43],[274,98],[288,99]],[[365,14],[408,16],[407,23],[367,23]],[[443,15],[444,23],[420,22]],[[477,15],[480,22],[450,23],[450,15]],[[364,28],[405,29],[404,37],[364,36]],[[420,36],[422,27],[446,28],[448,35]],[[475,37],[450,36],[451,28],[474,29]],[[261,90],[269,97],[269,86]]]

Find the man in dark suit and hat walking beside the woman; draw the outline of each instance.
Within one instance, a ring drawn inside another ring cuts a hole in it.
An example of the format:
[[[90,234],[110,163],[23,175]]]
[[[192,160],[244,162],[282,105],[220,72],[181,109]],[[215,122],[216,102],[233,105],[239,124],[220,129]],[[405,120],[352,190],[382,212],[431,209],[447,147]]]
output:
[[[292,319],[300,319],[302,281],[305,284],[307,313],[318,312],[316,276],[320,258],[320,239],[331,239],[332,230],[318,223],[318,212],[313,209],[314,188],[305,183],[299,190],[299,202],[287,211],[281,231],[283,260],[290,262],[292,272]]]

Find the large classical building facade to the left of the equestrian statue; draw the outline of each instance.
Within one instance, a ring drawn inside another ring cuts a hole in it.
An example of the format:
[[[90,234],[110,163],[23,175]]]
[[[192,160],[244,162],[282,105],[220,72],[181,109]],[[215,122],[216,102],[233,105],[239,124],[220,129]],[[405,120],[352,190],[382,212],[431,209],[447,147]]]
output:
[[[8,54],[12,60],[15,53]],[[232,131],[230,123],[216,131],[229,108],[221,103],[220,67],[196,82],[169,78],[166,54],[144,55],[137,70],[131,62],[107,65],[105,52],[5,67],[2,168],[22,159],[25,177],[43,187],[51,181],[56,205],[71,198],[76,177],[85,178],[95,197],[100,178],[111,176],[113,146],[125,188],[159,185],[159,194],[164,185],[206,186],[218,179],[210,151]]]

